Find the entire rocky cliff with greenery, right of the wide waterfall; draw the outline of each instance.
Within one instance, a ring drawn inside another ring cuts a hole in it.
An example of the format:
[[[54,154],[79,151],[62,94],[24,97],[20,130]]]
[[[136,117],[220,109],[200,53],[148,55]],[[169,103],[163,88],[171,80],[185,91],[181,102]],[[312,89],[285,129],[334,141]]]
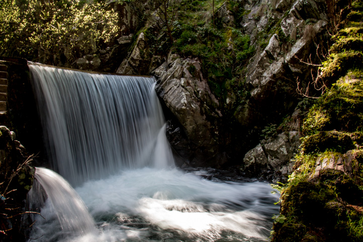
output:
[[[153,15],[117,72],[157,78],[156,90],[170,111],[168,137],[185,160],[243,163],[240,157],[259,143],[264,127],[281,122],[301,101],[297,82],[305,90],[317,70],[304,62],[316,62],[326,48],[332,10],[323,0],[226,1],[203,27],[183,22],[188,11],[180,8],[172,45]],[[212,61],[232,64],[209,63],[207,52],[216,51],[217,43],[198,38],[212,33],[225,44]],[[246,36],[251,47],[241,49],[238,41]]]

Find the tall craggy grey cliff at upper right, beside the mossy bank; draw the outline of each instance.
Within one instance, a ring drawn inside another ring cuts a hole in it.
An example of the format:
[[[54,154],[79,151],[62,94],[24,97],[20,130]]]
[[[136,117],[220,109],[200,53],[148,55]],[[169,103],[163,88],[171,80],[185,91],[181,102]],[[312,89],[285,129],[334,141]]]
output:
[[[251,12],[240,23],[258,48],[247,67],[251,98],[235,113],[237,120],[249,127],[267,120],[273,123],[294,107],[297,80],[311,80],[311,67],[299,59],[315,61],[328,24],[322,0],[258,2],[246,1],[245,9]],[[300,87],[306,85],[301,81]]]

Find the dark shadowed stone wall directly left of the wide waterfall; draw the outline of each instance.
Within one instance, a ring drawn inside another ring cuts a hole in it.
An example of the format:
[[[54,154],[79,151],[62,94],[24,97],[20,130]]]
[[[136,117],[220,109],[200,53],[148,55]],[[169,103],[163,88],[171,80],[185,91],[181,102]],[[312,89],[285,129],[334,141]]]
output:
[[[6,101],[0,101],[2,110],[0,125],[7,126],[17,134],[17,139],[31,154],[43,157],[43,137],[36,101],[30,82],[28,63],[23,58],[0,57],[0,65],[8,73]],[[0,80],[1,81],[1,80]],[[0,86],[1,88],[2,86]],[[0,93],[1,95],[1,93]]]

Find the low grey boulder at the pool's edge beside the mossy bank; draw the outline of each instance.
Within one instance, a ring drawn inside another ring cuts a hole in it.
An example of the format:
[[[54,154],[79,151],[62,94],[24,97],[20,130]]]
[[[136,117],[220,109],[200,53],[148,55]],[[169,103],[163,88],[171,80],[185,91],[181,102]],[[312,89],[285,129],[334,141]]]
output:
[[[281,133],[263,140],[247,152],[241,168],[247,176],[263,176],[270,180],[286,181],[292,172],[294,161],[291,159],[300,146],[298,131]]]

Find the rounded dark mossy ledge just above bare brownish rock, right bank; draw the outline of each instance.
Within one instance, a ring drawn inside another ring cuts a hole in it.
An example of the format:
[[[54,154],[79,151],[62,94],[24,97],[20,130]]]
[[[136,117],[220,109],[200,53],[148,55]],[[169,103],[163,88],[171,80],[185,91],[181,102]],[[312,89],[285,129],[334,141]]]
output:
[[[321,131],[318,134],[308,136],[301,147],[308,153],[314,151],[324,152],[327,149],[335,149],[338,152],[345,153],[355,148],[350,135],[338,131]]]

